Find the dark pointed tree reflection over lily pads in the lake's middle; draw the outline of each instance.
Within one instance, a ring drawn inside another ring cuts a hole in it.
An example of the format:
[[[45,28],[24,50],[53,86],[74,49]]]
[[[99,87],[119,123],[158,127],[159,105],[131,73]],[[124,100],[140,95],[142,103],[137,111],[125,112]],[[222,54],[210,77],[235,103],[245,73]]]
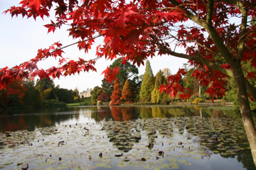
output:
[[[138,122],[104,122],[102,130],[107,132],[109,142],[122,152],[129,152],[141,140]]]

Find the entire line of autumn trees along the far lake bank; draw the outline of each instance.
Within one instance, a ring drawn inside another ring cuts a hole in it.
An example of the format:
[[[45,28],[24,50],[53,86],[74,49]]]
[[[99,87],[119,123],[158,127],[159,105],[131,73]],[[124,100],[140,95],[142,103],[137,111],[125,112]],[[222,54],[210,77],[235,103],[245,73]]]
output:
[[[12,80],[6,89],[0,91],[0,108],[60,107],[66,106],[67,103],[79,103],[80,105],[96,105],[97,103],[111,105],[170,104],[174,101],[183,101],[179,97],[171,99],[170,96],[160,93],[159,87],[161,84],[166,85],[168,76],[172,74],[169,68],[160,69],[154,75],[150,62],[147,60],[145,73],[138,76],[138,68],[129,62],[122,64],[121,58],[116,59],[109,67],[111,69],[120,68],[114,83],[106,82],[104,78],[101,87],[94,87],[90,92],[90,97],[81,99],[77,88],[74,90],[61,89],[59,85],[55,87],[53,81],[47,80],[47,78],[36,83],[29,79]],[[243,63],[243,67],[246,67],[247,70],[253,69],[248,63]],[[200,85],[200,82],[193,77],[193,71],[197,68],[188,67],[188,64],[183,64],[182,68],[187,74],[182,76],[180,85],[192,90],[189,103],[197,104],[210,100],[211,96],[205,93],[207,86]],[[226,81],[227,92],[222,99],[234,103],[234,107],[239,108],[235,82],[232,78],[228,78]],[[256,87],[256,81],[253,78],[249,81]],[[256,104],[252,102],[251,106],[255,110]]]

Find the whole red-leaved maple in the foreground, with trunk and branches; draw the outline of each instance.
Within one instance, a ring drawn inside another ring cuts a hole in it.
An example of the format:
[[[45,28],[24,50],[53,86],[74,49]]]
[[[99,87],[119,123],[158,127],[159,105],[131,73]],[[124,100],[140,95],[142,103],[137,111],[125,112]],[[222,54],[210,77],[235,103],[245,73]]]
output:
[[[66,3],[65,3],[66,2]],[[0,71],[0,89],[13,78],[39,76],[59,78],[81,71],[96,71],[95,62],[101,58],[113,60],[122,57],[123,63],[132,62],[140,66],[148,57],[169,55],[189,60],[195,66],[193,76],[201,85],[208,87],[212,96],[222,97],[225,80],[234,78],[244,127],[250,142],[253,160],[256,164],[256,129],[253,123],[249,100],[256,100],[256,87],[250,79],[256,78],[255,71],[243,67],[243,62],[256,67],[256,0],[26,0],[20,6],[4,11],[13,16],[49,17],[55,10],[56,20],[45,25],[48,32],[69,25],[68,32],[76,39],[72,45],[88,52],[95,39],[104,41],[97,46],[95,59],[67,60],[62,57],[60,42],[49,48],[38,50],[35,58],[19,66]],[[236,22],[234,22],[236,20]],[[183,47],[184,52],[175,51]],[[60,66],[39,69],[38,62],[55,57]],[[118,68],[103,72],[106,81],[115,80]],[[186,74],[180,69],[168,78],[168,84],[161,91],[188,99],[189,89],[180,86],[180,76]]]

